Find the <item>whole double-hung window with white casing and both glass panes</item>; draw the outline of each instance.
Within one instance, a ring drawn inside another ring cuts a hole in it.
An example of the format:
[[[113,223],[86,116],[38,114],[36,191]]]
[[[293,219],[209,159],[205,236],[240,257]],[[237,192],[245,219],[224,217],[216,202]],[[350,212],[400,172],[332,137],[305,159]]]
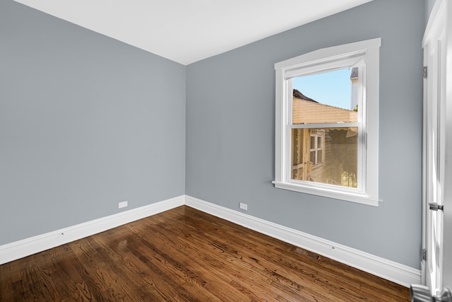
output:
[[[380,45],[366,40],[275,64],[275,187],[378,205]],[[326,95],[310,98],[318,85]],[[331,94],[335,85],[347,93]]]

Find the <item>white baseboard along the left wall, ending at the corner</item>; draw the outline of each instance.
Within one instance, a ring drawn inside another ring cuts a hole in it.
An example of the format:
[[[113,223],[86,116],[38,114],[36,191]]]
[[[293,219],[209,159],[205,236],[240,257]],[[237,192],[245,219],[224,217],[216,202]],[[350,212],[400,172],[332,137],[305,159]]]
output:
[[[70,243],[71,241],[92,236],[111,228],[116,228],[117,226],[161,213],[162,211],[174,209],[175,207],[179,207],[184,204],[185,196],[181,195],[162,202],[155,202],[154,204],[149,204],[148,206],[123,211],[111,216],[80,223],[76,226],[61,228],[57,231],[1,245],[0,265],[13,260],[18,260],[22,257],[33,255],[37,252],[48,250],[49,248],[55,248],[59,245]]]

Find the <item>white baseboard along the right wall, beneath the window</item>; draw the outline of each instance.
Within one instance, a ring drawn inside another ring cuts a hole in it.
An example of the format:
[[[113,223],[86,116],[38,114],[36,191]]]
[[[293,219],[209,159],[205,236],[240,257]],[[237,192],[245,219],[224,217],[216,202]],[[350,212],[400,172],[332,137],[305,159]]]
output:
[[[420,269],[401,265],[398,262],[386,260],[361,250],[349,248],[330,240],[312,236],[270,221],[258,219],[254,216],[227,209],[194,197],[186,196],[185,204],[194,209],[285,241],[286,243],[305,248],[311,252],[316,252],[319,255],[342,262],[345,265],[350,265],[350,267],[355,267],[383,279],[396,282],[397,284],[407,287],[410,287],[410,284],[420,284]]]

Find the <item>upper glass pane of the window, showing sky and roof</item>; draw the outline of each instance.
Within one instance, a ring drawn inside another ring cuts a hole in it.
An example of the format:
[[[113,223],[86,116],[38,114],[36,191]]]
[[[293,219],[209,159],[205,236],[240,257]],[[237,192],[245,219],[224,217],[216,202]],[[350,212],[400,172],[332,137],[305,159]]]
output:
[[[292,123],[357,122],[359,67],[293,79]]]

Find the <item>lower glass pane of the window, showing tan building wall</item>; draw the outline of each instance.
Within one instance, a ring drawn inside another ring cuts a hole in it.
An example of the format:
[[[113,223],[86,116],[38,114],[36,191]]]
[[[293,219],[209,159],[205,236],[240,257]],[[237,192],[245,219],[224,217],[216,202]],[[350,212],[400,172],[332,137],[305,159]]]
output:
[[[321,135],[313,137],[312,132]],[[357,187],[357,127],[292,129],[292,141],[297,141],[291,150],[297,158],[292,161],[293,180]],[[311,146],[316,141],[321,141],[317,148]]]

